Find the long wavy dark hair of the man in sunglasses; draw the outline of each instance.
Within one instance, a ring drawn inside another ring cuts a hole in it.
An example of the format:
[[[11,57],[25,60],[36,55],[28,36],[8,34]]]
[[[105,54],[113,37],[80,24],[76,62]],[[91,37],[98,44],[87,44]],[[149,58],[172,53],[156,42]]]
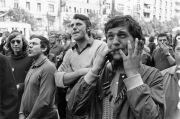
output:
[[[19,36],[19,35],[21,35],[21,37],[22,37],[22,43],[23,43],[22,51],[23,51],[23,52],[26,52],[26,51],[27,51],[28,42],[27,42],[27,40],[25,39],[25,37],[24,37],[20,32],[12,32],[12,33],[8,36],[8,38],[7,38],[7,48],[10,50],[10,52],[11,52],[12,54],[14,54],[14,53],[13,53],[13,50],[12,50],[12,48],[11,48],[11,40],[14,39],[15,37]]]

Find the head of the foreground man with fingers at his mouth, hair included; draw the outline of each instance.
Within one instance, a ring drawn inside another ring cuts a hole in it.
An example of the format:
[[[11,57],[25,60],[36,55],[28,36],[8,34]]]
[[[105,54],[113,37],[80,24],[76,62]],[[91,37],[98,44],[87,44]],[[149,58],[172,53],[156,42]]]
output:
[[[130,32],[131,31],[131,32]],[[135,47],[135,38],[142,39],[142,31],[139,24],[130,16],[115,17],[107,22],[105,25],[105,34],[107,39],[108,48],[112,49],[112,56],[114,60],[122,61],[119,49],[125,55],[128,54],[128,41],[131,46]]]

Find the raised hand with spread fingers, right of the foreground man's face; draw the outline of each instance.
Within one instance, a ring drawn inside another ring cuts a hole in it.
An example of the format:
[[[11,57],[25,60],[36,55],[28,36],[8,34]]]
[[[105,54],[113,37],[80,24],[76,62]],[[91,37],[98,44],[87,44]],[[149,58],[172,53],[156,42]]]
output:
[[[135,48],[132,48],[131,42],[128,41],[128,55],[126,56],[124,52],[120,49],[120,54],[123,58],[124,70],[127,77],[138,74],[141,61],[141,52],[142,52],[142,41],[135,39]]]

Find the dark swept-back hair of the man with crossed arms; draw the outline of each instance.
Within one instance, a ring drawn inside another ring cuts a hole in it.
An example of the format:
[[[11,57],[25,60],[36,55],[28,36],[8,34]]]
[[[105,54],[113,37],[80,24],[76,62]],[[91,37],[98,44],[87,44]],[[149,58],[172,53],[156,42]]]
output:
[[[84,23],[86,24],[86,28],[87,28],[86,30],[87,30],[88,36],[91,36],[91,32],[90,32],[91,21],[87,16],[85,16],[83,14],[75,14],[73,16],[73,19],[80,19],[80,20],[84,21]]]

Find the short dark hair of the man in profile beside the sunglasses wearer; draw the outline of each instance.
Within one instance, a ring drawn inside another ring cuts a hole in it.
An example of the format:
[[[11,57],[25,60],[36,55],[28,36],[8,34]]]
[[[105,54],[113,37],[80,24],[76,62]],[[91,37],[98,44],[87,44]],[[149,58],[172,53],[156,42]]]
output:
[[[40,39],[40,44],[41,44],[41,48],[47,48],[47,50],[44,52],[44,55],[48,55],[49,54],[49,50],[50,50],[50,45],[49,45],[49,40],[47,38],[45,38],[44,36],[41,35],[32,35],[30,37],[30,40],[33,38],[38,38]]]

